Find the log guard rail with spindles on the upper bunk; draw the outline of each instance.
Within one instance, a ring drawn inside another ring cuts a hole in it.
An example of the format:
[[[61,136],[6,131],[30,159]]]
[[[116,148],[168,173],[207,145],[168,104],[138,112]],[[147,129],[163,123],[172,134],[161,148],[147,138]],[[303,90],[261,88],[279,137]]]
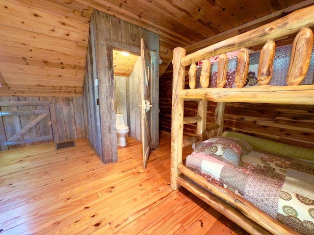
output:
[[[188,55],[185,55],[184,48],[175,48],[172,61],[173,98],[208,99],[215,102],[314,104],[314,84],[300,85],[307,75],[311,57],[313,57],[314,36],[311,30],[313,26],[314,5]],[[267,85],[273,73],[275,41],[295,33],[297,35],[291,48],[287,84],[285,86]],[[258,85],[243,87],[250,63],[250,51],[247,48],[263,44],[258,62]],[[226,53],[236,50],[238,54],[236,57],[235,88],[225,88],[228,64]],[[219,56],[217,86],[215,88],[209,87],[209,58],[214,56]],[[199,77],[202,88],[195,89],[196,64],[200,61],[203,61]],[[188,72],[190,89],[184,89],[186,66],[190,66]]]

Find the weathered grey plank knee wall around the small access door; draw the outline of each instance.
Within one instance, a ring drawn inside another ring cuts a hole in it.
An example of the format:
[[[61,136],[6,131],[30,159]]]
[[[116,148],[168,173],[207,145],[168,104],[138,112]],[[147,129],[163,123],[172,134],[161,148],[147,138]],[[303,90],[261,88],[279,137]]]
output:
[[[59,141],[76,139],[76,138],[86,136],[82,97],[15,97],[15,96],[6,97],[6,96],[0,96],[0,101],[46,101],[46,100],[55,102],[55,114],[56,114],[56,122],[57,122],[56,125],[57,125],[57,130],[58,130]],[[20,120],[20,118],[23,116],[15,116],[15,117],[19,117],[19,118],[15,118],[16,125],[20,126],[20,128],[23,128],[24,126],[22,123],[24,122]],[[40,127],[38,127],[37,125],[38,124],[36,124],[36,126],[34,126],[33,128],[40,129]],[[4,129],[5,129],[5,126],[4,126]],[[44,131],[44,132],[47,132],[47,131]],[[32,131],[32,129],[30,129],[29,133],[26,133],[26,134],[29,134],[28,137],[36,137],[38,135],[40,136],[40,135],[49,134],[49,133],[44,133],[44,132],[41,130]],[[15,133],[13,133],[13,135],[14,134]],[[0,133],[0,135],[4,135],[4,133]],[[13,136],[13,135],[9,134],[9,136]],[[4,135],[4,138],[5,138],[5,135]],[[26,147],[26,146],[37,145],[37,144],[42,144],[42,143],[47,143],[47,142],[52,142],[52,140],[36,141],[36,142],[24,143],[24,144],[18,144],[18,145],[10,145],[8,146],[8,149]]]

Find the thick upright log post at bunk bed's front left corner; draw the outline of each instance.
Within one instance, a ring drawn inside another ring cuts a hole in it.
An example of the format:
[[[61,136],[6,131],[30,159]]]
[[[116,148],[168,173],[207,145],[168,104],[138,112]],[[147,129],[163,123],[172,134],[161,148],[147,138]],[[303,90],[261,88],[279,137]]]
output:
[[[171,113],[171,182],[170,187],[177,190],[180,186],[177,178],[181,174],[178,164],[182,163],[183,147],[183,110],[184,100],[179,92],[184,89],[185,67],[181,59],[185,56],[185,49],[177,47],[173,51],[173,83],[172,83],[172,113]]]

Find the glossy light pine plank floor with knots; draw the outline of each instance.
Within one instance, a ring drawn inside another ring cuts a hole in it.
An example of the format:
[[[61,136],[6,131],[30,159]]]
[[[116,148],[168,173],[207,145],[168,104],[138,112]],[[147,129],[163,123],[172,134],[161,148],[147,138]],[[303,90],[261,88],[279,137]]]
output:
[[[0,152],[0,235],[247,235],[184,188],[170,189],[169,135],[145,171],[132,138],[113,164],[87,139],[75,142]]]

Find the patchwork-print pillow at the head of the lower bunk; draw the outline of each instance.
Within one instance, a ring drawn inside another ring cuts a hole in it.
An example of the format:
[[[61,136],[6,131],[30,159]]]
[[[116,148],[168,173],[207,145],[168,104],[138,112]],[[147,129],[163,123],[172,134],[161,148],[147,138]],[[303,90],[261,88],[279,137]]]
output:
[[[214,137],[199,143],[195,150],[205,153],[220,161],[242,168],[241,157],[253,151],[253,147],[246,141],[232,137]]]

